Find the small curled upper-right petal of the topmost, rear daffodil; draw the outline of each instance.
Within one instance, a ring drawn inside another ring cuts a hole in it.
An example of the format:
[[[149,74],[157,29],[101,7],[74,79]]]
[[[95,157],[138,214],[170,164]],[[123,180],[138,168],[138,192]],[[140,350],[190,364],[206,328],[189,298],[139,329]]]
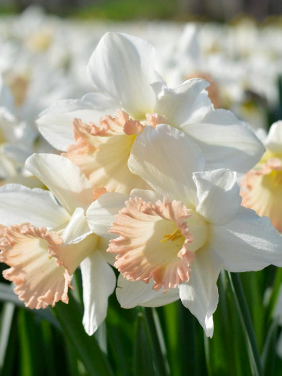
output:
[[[208,92],[210,84],[200,78],[185,81],[176,89],[163,89],[154,112],[164,115],[168,124],[181,129],[182,125],[200,121],[212,108]]]

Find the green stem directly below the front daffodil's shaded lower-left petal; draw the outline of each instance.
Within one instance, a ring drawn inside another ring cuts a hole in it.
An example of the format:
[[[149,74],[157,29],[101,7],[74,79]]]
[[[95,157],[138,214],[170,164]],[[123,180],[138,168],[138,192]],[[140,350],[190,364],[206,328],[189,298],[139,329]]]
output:
[[[152,308],[143,307],[143,313],[145,317],[145,321],[148,327],[148,334],[149,340],[151,342],[152,352],[153,352],[153,360],[155,365],[156,375],[158,376],[167,376],[168,372],[165,366],[166,359],[163,357],[159,336],[153,316]]]

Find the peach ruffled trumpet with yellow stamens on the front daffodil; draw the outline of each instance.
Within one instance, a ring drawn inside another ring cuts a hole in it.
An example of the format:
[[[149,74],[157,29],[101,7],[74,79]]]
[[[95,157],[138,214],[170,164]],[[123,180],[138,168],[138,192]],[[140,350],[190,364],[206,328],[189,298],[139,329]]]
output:
[[[163,291],[190,278],[194,252],[208,238],[208,225],[201,215],[180,201],[145,202],[131,197],[116,216],[108,252],[116,254],[115,267],[129,281],[155,282]]]

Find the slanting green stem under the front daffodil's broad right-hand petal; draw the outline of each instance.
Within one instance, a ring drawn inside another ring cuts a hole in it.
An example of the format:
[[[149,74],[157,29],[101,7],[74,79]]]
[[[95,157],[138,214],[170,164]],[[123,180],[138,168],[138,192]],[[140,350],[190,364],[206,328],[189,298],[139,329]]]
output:
[[[263,367],[258,350],[257,340],[239,274],[228,272],[228,276],[233,294],[235,296],[236,305],[243,326],[243,331],[246,337],[249,358],[253,367],[253,373],[256,376],[263,376]]]

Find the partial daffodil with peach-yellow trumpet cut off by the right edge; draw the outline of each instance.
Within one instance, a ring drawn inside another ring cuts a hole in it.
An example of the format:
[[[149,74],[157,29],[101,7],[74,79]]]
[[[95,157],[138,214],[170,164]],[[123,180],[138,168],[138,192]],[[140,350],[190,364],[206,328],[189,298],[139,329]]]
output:
[[[267,215],[282,233],[282,121],[271,125],[261,161],[242,179],[242,205]]]

